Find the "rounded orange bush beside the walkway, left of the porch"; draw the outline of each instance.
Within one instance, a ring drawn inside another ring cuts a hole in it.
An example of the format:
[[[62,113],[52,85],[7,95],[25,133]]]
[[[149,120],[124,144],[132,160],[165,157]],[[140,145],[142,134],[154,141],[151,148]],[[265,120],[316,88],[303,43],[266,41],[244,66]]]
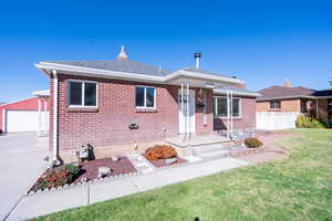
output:
[[[168,145],[157,145],[155,147],[148,148],[144,157],[148,160],[153,159],[170,159],[177,156],[176,150]]]

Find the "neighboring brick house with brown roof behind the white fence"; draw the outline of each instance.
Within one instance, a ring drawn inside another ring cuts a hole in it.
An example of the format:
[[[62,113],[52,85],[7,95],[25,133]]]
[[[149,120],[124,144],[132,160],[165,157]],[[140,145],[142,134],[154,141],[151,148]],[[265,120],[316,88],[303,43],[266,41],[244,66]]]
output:
[[[332,91],[315,91],[302,86],[270,86],[259,91],[257,112],[295,112],[331,123]]]

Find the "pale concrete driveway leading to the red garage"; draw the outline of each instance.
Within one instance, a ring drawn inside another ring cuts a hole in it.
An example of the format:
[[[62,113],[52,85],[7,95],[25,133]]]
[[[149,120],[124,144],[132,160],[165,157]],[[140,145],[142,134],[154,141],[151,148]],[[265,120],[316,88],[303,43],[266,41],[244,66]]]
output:
[[[44,171],[46,150],[35,149],[35,133],[14,133],[0,136],[0,220],[27,193]]]

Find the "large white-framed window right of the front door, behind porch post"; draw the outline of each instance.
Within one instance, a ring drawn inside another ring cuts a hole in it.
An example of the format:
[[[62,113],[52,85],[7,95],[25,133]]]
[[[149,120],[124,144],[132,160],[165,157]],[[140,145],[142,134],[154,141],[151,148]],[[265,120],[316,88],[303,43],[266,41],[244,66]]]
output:
[[[241,104],[239,97],[232,98],[232,117],[241,117]],[[216,117],[227,117],[227,98],[222,96],[214,97],[214,115]]]

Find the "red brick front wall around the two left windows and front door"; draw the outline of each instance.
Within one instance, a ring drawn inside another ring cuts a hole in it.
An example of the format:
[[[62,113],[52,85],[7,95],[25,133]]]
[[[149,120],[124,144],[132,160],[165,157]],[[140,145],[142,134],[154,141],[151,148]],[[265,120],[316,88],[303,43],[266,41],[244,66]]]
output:
[[[59,147],[76,148],[82,143],[95,147],[134,141],[157,141],[178,134],[178,86],[135,83],[121,80],[80,77],[80,80],[98,83],[98,107],[69,108],[68,80],[75,76],[59,75]],[[137,110],[135,108],[135,85],[156,87],[156,110]],[[53,80],[50,81],[51,99]],[[198,88],[195,88],[196,99]],[[196,107],[196,134],[212,131],[212,91],[207,92],[207,125],[203,125],[203,112]],[[53,135],[53,104],[50,106],[50,148]],[[131,130],[128,125],[135,123],[139,128]]]

